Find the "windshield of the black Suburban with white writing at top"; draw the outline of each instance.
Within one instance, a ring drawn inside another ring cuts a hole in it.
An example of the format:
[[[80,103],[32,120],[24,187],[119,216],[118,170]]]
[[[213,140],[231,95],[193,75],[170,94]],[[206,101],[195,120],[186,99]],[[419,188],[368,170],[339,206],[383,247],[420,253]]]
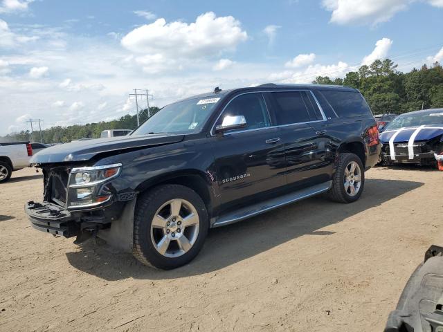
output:
[[[197,133],[220,98],[195,98],[163,107],[147,119],[133,135],[147,133]]]

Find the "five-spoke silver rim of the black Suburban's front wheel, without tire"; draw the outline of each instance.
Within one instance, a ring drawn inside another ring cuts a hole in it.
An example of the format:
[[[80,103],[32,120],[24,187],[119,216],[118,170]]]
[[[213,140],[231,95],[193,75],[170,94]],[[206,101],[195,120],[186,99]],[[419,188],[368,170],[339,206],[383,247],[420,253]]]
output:
[[[186,254],[199,235],[197,209],[184,199],[167,201],[154,214],[151,241],[157,252],[175,258]]]

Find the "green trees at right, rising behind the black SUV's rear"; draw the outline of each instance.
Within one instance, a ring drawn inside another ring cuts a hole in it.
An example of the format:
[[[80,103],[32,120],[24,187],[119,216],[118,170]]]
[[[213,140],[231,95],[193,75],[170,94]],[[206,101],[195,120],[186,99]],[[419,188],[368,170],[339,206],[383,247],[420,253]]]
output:
[[[313,83],[359,89],[374,114],[443,107],[443,68],[438,62],[431,68],[424,64],[420,69],[401,73],[390,59],[375,60],[370,66],[347,73],[345,78],[318,76]]]

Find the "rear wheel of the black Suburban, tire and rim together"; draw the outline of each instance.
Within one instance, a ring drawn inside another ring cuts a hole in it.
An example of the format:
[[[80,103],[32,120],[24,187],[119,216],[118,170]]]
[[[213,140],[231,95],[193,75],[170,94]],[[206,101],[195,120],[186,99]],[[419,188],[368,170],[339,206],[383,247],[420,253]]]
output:
[[[338,203],[352,203],[358,200],[365,185],[365,172],[361,159],[356,154],[340,154],[332,178],[329,199]]]

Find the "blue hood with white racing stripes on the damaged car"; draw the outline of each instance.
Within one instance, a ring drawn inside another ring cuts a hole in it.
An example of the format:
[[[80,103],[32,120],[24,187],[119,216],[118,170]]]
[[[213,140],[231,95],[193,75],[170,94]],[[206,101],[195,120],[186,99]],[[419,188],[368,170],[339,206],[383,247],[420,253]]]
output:
[[[418,129],[418,131],[417,131]],[[443,135],[443,125],[430,125],[426,127],[404,127],[401,129],[387,130],[380,134],[382,143],[388,143],[392,136],[396,135],[394,142],[408,142],[410,137],[415,134],[415,141],[431,140],[437,136]]]

